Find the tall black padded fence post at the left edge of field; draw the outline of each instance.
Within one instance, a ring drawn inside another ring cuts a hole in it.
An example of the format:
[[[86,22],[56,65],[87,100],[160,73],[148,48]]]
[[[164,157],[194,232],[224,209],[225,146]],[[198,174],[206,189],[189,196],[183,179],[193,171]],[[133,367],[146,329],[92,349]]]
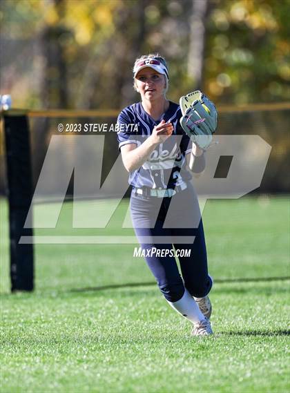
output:
[[[33,235],[24,229],[32,200],[32,168],[28,117],[21,113],[3,113],[10,224],[11,291],[34,289],[32,244],[19,244],[21,236]]]

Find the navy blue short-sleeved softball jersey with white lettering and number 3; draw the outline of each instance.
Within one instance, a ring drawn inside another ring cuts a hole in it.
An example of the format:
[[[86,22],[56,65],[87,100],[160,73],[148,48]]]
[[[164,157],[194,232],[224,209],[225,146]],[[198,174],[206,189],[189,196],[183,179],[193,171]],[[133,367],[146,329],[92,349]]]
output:
[[[125,144],[142,144],[162,119],[169,120],[174,127],[171,137],[159,144],[139,169],[130,173],[129,184],[137,188],[166,189],[182,186],[191,180],[185,155],[191,152],[192,142],[180,126],[180,117],[180,106],[174,102],[169,102],[168,110],[157,121],[144,111],[141,102],[127,106],[119,114],[119,148]]]

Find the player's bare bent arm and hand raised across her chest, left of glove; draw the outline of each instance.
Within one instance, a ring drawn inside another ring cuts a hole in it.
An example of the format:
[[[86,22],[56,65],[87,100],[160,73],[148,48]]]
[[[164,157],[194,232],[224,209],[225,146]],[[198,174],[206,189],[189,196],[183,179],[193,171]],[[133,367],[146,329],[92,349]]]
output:
[[[166,123],[164,120],[160,122],[152,131],[152,135],[148,137],[140,146],[136,144],[125,144],[121,147],[123,164],[128,172],[139,169],[140,166],[148,160],[156,146],[166,140],[173,132],[173,125]]]

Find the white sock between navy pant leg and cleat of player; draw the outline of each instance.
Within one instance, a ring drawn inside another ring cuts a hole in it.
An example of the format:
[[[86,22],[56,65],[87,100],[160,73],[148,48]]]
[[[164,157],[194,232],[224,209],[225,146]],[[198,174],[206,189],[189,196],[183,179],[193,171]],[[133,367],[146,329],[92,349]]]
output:
[[[200,320],[204,320],[204,314],[202,314],[200,308],[195,303],[195,300],[187,289],[185,289],[184,295],[180,300],[177,300],[177,302],[168,301],[168,303],[171,305],[171,307],[182,314],[182,316],[189,319],[192,323],[197,323],[200,322]]]

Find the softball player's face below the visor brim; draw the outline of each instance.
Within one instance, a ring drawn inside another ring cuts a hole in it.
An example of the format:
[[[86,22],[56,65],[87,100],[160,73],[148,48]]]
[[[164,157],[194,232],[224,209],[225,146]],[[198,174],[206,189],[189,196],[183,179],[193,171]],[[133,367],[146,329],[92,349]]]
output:
[[[142,99],[154,101],[164,97],[166,89],[165,76],[152,68],[143,68],[135,77],[135,88]]]

